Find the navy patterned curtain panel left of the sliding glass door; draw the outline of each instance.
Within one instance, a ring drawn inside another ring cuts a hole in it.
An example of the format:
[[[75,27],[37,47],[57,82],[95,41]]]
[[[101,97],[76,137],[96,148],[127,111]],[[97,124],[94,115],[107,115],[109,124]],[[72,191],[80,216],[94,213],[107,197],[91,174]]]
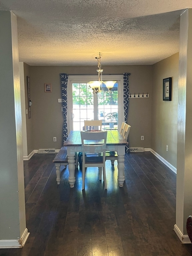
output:
[[[63,143],[66,141],[68,137],[68,129],[67,129],[67,82],[68,75],[63,73],[60,74],[61,81],[61,96],[62,96],[62,113],[63,113]]]

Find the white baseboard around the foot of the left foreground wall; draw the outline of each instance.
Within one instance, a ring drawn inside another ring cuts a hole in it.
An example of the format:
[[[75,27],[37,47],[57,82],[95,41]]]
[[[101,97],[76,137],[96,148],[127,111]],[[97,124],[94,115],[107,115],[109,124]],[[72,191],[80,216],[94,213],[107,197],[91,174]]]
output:
[[[29,236],[27,228],[19,239],[0,240],[0,248],[23,248]]]

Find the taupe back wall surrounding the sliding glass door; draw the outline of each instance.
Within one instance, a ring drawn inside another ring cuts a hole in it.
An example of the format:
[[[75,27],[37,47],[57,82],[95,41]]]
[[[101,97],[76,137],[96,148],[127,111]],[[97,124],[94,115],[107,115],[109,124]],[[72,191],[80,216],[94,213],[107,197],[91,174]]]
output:
[[[25,67],[28,70],[29,66]],[[150,148],[152,65],[104,66],[103,69],[103,74],[131,73],[130,92],[149,93],[149,98],[130,99],[128,123],[132,126],[130,147]],[[96,66],[30,66],[32,119],[27,120],[27,140],[33,141],[33,150],[62,146],[63,116],[61,103],[58,103],[58,98],[61,98],[60,73],[96,74]],[[44,92],[44,83],[52,84],[52,93]],[[141,135],[145,136],[144,141],[141,141]],[[57,142],[53,142],[53,137],[57,137]]]

